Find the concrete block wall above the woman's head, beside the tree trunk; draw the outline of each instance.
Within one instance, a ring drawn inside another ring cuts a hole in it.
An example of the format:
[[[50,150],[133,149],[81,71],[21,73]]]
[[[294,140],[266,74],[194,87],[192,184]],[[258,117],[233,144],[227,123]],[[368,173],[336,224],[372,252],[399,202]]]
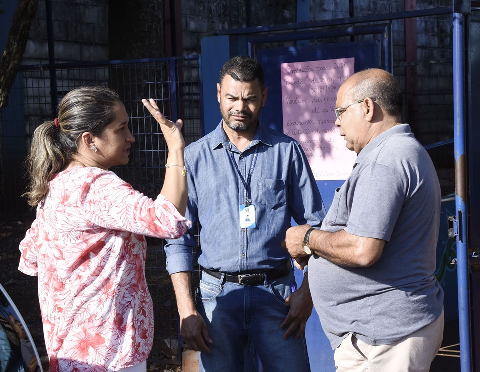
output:
[[[108,0],[51,0],[51,17],[55,63],[108,59]],[[39,0],[22,65],[47,63],[49,63],[47,8],[45,0]],[[85,76],[85,73],[67,75],[65,71],[59,70],[56,78],[60,99],[72,87],[107,81],[108,74],[104,74],[102,80],[98,81],[98,76]],[[29,138],[34,129],[43,121],[52,119],[54,114],[48,71],[22,72],[21,89],[25,97],[22,107],[28,148]],[[35,114],[32,114],[33,112]]]

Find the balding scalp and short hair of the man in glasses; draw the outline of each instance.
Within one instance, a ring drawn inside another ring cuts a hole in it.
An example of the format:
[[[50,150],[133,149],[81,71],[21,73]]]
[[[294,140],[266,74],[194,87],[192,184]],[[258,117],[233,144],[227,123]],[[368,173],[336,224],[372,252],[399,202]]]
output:
[[[386,114],[401,115],[403,103],[400,85],[391,73],[370,68],[351,75],[345,83],[348,83],[352,101],[365,97],[375,98],[375,102]]]

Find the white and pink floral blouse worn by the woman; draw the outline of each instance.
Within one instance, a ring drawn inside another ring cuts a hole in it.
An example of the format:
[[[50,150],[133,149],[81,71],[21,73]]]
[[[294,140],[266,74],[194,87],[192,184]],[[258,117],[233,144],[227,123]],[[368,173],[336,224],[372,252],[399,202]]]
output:
[[[190,225],[113,172],[55,175],[20,243],[19,269],[38,276],[50,372],[126,368],[147,359],[153,309],[144,235],[177,238]]]

